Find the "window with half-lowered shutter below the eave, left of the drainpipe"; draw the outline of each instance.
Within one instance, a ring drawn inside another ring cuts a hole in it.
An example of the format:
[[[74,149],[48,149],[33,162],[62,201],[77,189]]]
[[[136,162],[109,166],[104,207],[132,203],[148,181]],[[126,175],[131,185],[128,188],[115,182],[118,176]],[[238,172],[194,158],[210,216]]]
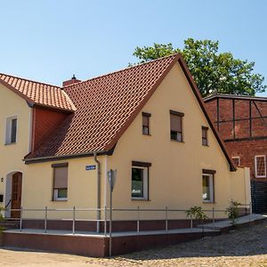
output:
[[[68,163],[53,164],[53,200],[68,199]]]

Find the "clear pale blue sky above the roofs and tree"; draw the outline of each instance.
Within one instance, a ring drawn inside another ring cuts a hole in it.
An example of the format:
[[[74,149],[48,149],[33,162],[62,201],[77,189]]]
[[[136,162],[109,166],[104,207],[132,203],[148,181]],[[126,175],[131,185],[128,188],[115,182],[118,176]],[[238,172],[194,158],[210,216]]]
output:
[[[137,45],[188,37],[255,61],[267,85],[264,0],[0,0],[0,30],[0,72],[54,85],[125,68]]]

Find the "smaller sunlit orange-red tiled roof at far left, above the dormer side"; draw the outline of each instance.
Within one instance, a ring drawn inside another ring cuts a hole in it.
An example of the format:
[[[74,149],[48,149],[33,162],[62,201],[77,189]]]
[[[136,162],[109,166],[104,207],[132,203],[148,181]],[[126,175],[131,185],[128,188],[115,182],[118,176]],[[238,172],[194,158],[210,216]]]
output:
[[[59,86],[46,85],[3,73],[0,73],[0,84],[9,87],[31,104],[53,109],[76,110],[68,94]]]

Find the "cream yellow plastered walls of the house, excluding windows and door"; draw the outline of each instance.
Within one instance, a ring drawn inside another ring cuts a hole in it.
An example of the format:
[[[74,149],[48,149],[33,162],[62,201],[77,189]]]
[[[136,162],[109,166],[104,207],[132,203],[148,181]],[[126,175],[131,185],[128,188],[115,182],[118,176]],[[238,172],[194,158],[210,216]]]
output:
[[[0,133],[0,194],[5,195],[6,175],[20,171],[22,178],[22,206],[24,208],[96,208],[97,170],[86,171],[85,166],[96,165],[93,157],[69,158],[25,165],[22,158],[28,153],[31,109],[26,101],[1,86],[0,118],[18,114],[18,142],[4,146],[4,128]],[[183,142],[170,139],[170,110],[184,113]],[[151,114],[150,135],[142,134],[142,111]],[[142,111],[120,137],[111,156],[98,156],[101,163],[101,207],[109,206],[107,171],[117,170],[113,191],[114,208],[225,209],[230,200],[242,204],[250,202],[249,172],[247,168],[230,171],[230,166],[217,142],[198,100],[190,88],[178,63],[169,71]],[[209,127],[208,146],[202,145],[201,127]],[[149,199],[131,198],[132,161],[150,163]],[[69,163],[68,200],[53,201],[52,164]],[[202,169],[214,170],[214,203],[202,201]],[[134,219],[136,214],[117,212],[116,219]],[[44,218],[44,211],[24,212],[25,218]],[[143,219],[162,218],[162,214],[143,213]],[[184,213],[171,215],[184,217]],[[220,214],[220,217],[225,214]],[[50,212],[49,218],[71,218],[72,213]],[[79,219],[96,219],[96,212],[78,211]],[[101,214],[101,219],[104,213]]]

